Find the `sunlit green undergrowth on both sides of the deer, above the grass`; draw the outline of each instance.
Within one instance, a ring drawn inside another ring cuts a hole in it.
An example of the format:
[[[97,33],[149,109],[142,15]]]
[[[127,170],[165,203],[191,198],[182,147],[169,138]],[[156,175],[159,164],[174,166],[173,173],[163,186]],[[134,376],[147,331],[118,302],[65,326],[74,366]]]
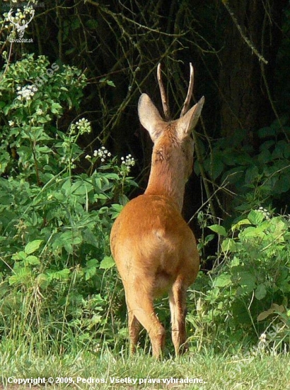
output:
[[[129,177],[134,159],[118,161],[102,145],[86,152],[79,146],[91,123],[78,113],[86,86],[78,69],[23,55],[6,64],[0,77],[3,353],[19,357],[23,347],[26,357],[43,359],[83,351],[99,358],[104,351],[127,354],[124,291],[109,235],[136,186]],[[68,112],[74,118],[67,123]],[[275,177],[266,171],[261,177]],[[284,177],[275,180],[279,187]],[[245,186],[243,207],[241,198],[237,206],[243,215],[230,228],[204,222],[199,214],[199,222],[211,229],[199,247],[218,234],[219,251],[211,271],[199,272],[188,294],[190,353],[209,348],[235,355],[257,344],[273,353],[289,349],[289,217],[256,207],[262,195],[254,192],[249,197]],[[157,306],[169,338],[168,302]],[[167,347],[170,357],[171,343]],[[144,333],[139,350],[150,350]]]

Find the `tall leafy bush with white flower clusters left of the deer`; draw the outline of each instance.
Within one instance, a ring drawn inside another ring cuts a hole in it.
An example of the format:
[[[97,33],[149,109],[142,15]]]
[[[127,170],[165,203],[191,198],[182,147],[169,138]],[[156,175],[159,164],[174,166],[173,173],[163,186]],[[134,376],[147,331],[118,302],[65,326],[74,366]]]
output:
[[[85,157],[85,118],[59,128],[79,107],[79,70],[24,55],[0,78],[0,336],[44,353],[98,350],[123,337],[108,241],[134,160],[119,165],[105,147]]]

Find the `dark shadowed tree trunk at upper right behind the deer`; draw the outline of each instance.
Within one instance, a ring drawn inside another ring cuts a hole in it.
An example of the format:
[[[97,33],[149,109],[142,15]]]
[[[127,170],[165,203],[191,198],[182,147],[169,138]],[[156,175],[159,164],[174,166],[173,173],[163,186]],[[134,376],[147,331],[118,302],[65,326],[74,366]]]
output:
[[[282,38],[282,11],[286,3],[285,0],[224,2],[224,49],[220,57],[219,87],[221,133],[226,137],[244,128],[248,132],[248,143],[255,146],[255,130],[269,125],[274,119],[268,92],[272,92],[275,60]],[[267,64],[258,54],[267,60]]]

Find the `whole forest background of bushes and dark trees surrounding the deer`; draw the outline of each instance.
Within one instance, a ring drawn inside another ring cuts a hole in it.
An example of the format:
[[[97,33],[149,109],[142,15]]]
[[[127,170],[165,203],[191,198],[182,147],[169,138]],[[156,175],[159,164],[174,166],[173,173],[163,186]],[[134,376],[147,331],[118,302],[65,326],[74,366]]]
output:
[[[177,116],[192,62],[194,100],[206,103],[184,206],[202,255],[190,350],[288,349],[289,18],[285,0],[1,2],[4,345],[122,351],[108,237],[149,176],[137,103],[146,92],[161,108],[161,62]],[[170,330],[166,301],[158,313]]]

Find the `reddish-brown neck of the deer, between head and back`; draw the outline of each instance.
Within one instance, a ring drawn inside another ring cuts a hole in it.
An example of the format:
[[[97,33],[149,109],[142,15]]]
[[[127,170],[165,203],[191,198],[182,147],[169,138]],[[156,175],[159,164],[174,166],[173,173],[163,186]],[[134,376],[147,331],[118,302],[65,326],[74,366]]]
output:
[[[172,161],[170,161],[172,160]],[[168,196],[182,210],[185,194],[184,167],[179,159],[166,155],[162,149],[153,148],[151,171],[145,194]]]

